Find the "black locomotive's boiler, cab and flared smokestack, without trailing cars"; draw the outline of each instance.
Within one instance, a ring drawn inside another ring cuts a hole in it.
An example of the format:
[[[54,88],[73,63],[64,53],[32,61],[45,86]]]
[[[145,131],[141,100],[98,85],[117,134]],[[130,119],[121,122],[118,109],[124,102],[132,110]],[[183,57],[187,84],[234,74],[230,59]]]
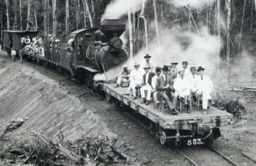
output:
[[[68,46],[73,50],[73,66],[80,73],[104,73],[127,60],[122,49],[120,35],[125,31],[125,24],[119,19],[106,19],[100,29],[89,28],[76,30],[69,35]],[[61,53],[65,55],[65,53]],[[60,64],[66,64],[60,59]],[[67,66],[68,64],[64,65]]]

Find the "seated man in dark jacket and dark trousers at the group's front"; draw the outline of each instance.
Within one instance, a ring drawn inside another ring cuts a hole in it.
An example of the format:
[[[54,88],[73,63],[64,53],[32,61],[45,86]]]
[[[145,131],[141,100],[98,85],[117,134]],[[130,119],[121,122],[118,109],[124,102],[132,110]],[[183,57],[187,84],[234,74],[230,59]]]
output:
[[[167,75],[168,73],[168,66],[163,66],[163,75],[158,77],[156,79],[156,91],[157,91],[157,97],[163,98],[165,102],[167,103],[171,113],[173,115],[178,114],[178,111],[175,109],[176,106],[176,97],[173,97],[173,102],[171,102],[170,98],[168,97],[167,93],[170,93],[172,90],[172,78]]]

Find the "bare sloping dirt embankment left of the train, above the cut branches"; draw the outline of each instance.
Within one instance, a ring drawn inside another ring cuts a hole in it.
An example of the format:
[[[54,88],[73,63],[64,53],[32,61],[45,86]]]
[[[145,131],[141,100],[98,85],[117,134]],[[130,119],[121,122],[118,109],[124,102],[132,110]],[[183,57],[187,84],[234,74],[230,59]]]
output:
[[[0,60],[0,126],[11,119],[28,120],[14,133],[27,133],[32,127],[42,129],[55,138],[62,130],[65,138],[106,134],[114,136],[106,124],[60,82],[46,77],[35,69],[19,63]]]

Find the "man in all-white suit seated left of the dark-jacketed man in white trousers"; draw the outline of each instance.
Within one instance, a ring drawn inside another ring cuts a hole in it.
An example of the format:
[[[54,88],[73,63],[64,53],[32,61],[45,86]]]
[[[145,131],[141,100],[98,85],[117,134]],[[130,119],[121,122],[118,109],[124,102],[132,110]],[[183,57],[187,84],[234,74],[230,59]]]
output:
[[[134,70],[130,73],[130,84],[127,89],[127,92],[124,93],[124,95],[129,95],[129,92],[131,91],[133,94],[132,100],[135,100],[137,98],[136,96],[136,86],[140,86],[141,82],[143,80],[143,75],[145,72],[140,70],[140,64],[137,62],[134,64]]]

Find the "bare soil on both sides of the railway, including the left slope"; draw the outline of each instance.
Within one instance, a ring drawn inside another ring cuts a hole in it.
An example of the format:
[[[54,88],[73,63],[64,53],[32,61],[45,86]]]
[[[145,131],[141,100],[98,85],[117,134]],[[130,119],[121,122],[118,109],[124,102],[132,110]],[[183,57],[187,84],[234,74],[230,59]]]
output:
[[[234,98],[239,96],[248,115],[223,127],[222,136],[213,147],[239,165],[255,165],[241,154],[255,157],[255,93],[219,91]],[[0,142],[0,151],[14,141],[29,139],[30,129],[35,127],[53,140],[57,140],[60,131],[64,141],[107,135],[117,140],[120,152],[129,156],[129,165],[189,165],[175,149],[156,144],[154,136],[134,118],[86,86],[71,82],[53,68],[25,61],[12,63],[6,53],[0,53],[0,132],[6,122],[25,117],[28,120]],[[209,156],[205,163],[214,165],[211,161]]]

